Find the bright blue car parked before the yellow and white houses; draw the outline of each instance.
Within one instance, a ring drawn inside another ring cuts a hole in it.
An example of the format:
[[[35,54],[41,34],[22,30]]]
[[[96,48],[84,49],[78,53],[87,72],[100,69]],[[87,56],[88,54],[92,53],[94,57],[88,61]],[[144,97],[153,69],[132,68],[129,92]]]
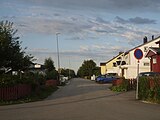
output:
[[[96,82],[98,83],[110,83],[113,80],[118,79],[119,76],[117,73],[107,73],[105,75],[100,75],[96,78]]]

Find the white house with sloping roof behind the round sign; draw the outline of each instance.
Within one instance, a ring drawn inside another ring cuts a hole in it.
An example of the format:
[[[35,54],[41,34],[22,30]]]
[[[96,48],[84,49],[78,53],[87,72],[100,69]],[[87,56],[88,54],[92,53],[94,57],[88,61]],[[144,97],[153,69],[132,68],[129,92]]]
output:
[[[137,77],[137,64],[138,60],[134,56],[134,51],[139,48],[143,52],[143,57],[139,62],[139,72],[149,72],[150,71],[150,60],[146,58],[144,55],[147,53],[150,47],[158,47],[156,42],[160,41],[160,37],[154,38],[152,36],[152,40],[148,41],[147,37],[143,39],[143,44],[134,47],[124,53],[121,54],[121,58],[119,64],[116,61],[112,62],[112,70],[117,71],[118,75],[125,77],[126,79],[134,79]],[[109,60],[109,61],[112,61]],[[109,62],[108,61],[108,62]],[[107,62],[107,63],[108,63]],[[107,66],[107,65],[106,65]],[[107,70],[107,67],[106,67]]]

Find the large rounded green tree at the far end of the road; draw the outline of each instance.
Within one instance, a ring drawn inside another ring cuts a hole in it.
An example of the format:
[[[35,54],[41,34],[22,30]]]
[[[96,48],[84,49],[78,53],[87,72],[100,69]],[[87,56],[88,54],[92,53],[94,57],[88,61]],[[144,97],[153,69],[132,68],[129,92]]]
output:
[[[81,67],[79,67],[77,76],[90,78],[93,74],[98,73],[98,68],[93,60],[85,60]]]

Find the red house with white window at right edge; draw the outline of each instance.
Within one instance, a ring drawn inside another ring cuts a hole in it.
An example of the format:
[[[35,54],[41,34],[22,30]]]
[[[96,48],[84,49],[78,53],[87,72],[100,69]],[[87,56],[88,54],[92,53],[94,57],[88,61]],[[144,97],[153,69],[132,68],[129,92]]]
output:
[[[150,71],[160,72],[160,41],[156,42],[159,47],[150,47],[145,57],[150,60]]]

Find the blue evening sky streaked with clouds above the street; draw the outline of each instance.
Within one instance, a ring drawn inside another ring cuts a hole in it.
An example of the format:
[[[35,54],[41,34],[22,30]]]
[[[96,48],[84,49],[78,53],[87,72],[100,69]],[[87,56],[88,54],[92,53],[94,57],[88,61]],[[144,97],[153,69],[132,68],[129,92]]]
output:
[[[22,48],[36,63],[51,57],[75,71],[84,60],[97,66],[160,35],[159,0],[0,0],[0,21],[18,29]]]

